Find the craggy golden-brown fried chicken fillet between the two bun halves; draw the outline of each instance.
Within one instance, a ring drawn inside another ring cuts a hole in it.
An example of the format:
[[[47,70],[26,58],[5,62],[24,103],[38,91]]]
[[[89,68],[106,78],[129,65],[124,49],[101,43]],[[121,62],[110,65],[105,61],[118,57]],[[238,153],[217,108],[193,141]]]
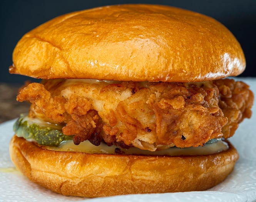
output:
[[[66,123],[74,142],[122,144],[155,151],[203,146],[230,137],[249,118],[253,94],[231,79],[200,83],[45,80],[29,84],[17,99],[32,104],[30,116]],[[220,93],[219,93],[220,92]],[[60,106],[61,104],[61,106]],[[125,146],[125,147],[126,147]]]

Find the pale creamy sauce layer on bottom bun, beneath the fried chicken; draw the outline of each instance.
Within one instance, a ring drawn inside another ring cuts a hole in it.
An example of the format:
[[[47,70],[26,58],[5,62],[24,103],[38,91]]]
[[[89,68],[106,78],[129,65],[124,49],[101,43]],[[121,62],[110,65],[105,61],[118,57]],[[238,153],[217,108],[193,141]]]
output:
[[[47,147],[49,150],[55,151],[72,151],[72,152],[84,152],[88,154],[116,154],[115,149],[119,148],[123,154],[142,154],[142,155],[165,155],[165,156],[181,156],[181,155],[209,155],[216,154],[227,150],[228,143],[219,139],[211,144],[206,144],[204,147],[189,147],[189,148],[177,148],[170,147],[161,151],[147,151],[138,149],[136,147],[131,147],[129,149],[122,149],[117,146],[107,146],[106,144],[100,144],[100,146],[95,146],[89,141],[81,142],[79,145],[75,145],[73,141],[65,141],[60,144],[59,147]]]

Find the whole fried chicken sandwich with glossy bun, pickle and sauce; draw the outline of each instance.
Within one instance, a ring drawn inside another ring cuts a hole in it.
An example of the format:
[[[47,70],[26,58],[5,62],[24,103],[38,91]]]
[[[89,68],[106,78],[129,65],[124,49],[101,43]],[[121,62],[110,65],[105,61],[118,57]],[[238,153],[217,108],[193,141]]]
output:
[[[206,190],[238,159],[227,138],[250,118],[253,93],[225,78],[245,66],[225,26],[180,8],[114,5],[54,18],[13,52],[10,73],[42,82],[17,96],[31,107],[14,125],[10,156],[64,195]]]

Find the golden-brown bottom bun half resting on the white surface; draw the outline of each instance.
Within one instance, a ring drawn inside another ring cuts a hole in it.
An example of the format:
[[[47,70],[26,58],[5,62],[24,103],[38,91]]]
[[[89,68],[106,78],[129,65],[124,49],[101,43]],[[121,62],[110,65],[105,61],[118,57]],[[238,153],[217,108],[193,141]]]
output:
[[[207,156],[86,154],[43,149],[14,136],[13,163],[30,180],[64,195],[101,197],[135,193],[205,190],[233,170],[238,153]]]

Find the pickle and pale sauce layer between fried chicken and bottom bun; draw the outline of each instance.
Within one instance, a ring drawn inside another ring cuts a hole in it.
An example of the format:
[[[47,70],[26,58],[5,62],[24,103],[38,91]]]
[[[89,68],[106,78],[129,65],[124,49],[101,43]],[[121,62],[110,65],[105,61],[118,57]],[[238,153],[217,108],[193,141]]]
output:
[[[225,151],[229,148],[228,143],[224,139],[211,139],[206,142],[204,147],[188,147],[178,148],[170,147],[159,151],[142,150],[136,147],[124,149],[119,146],[108,146],[101,142],[99,146],[95,146],[90,141],[85,140],[75,145],[73,136],[66,136],[62,132],[61,125],[47,123],[42,119],[29,118],[24,114],[14,124],[16,136],[23,137],[27,141],[37,142],[45,149],[54,151],[73,151],[84,152],[89,154],[143,154],[143,155],[209,155]]]

